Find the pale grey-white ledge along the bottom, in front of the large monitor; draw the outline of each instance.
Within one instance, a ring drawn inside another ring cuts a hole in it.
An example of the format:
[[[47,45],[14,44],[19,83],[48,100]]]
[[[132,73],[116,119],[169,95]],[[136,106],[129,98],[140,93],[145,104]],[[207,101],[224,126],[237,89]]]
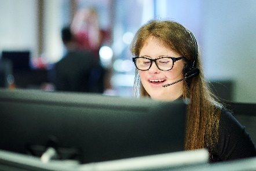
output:
[[[0,150],[0,170],[44,170],[44,171],[167,171],[191,170],[199,166],[209,166],[209,153],[206,149],[178,151],[118,159],[114,161],[79,164],[74,161],[52,160],[44,163],[39,158]],[[203,169],[200,169],[203,170]],[[206,169],[204,169],[206,170]]]

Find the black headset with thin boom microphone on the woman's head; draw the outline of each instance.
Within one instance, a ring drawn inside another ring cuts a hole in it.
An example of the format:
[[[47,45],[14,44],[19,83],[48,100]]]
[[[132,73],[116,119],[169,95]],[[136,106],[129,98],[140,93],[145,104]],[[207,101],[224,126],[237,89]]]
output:
[[[198,68],[196,68],[196,61],[198,60],[198,43],[196,42],[196,38],[193,35],[192,32],[190,32],[192,38],[193,38],[193,42],[195,43],[195,58],[193,61],[188,61],[188,64],[185,66],[185,74],[184,74],[184,78],[174,81],[173,83],[170,84],[164,84],[163,87],[167,87],[173,84],[176,84],[180,81],[183,80],[188,80],[188,79],[192,79],[195,76],[198,76],[200,73],[200,70]]]

